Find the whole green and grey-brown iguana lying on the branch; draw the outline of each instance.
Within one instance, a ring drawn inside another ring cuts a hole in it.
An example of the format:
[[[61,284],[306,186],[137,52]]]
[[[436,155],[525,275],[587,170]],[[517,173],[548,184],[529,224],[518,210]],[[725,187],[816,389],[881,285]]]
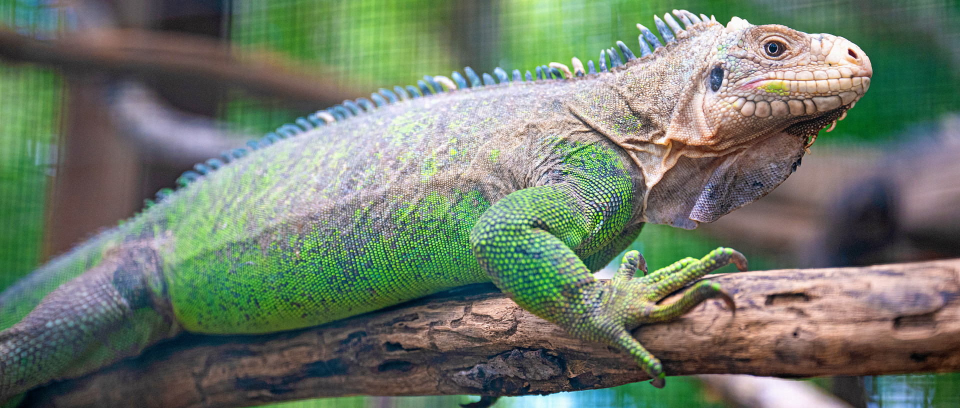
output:
[[[655,17],[660,38],[637,24],[639,57],[618,41],[598,66],[554,62],[537,80],[425,77],[197,165],[0,295],[0,400],[181,331],[290,330],[488,281],[661,387],[631,330],[711,298],[732,307],[708,280],[658,300],[744,270],[743,255],[635,277],[645,263],[628,252],[611,281],[591,272],[644,223],[695,228],[771,191],[873,74],[843,37],[673,14],[684,28]]]

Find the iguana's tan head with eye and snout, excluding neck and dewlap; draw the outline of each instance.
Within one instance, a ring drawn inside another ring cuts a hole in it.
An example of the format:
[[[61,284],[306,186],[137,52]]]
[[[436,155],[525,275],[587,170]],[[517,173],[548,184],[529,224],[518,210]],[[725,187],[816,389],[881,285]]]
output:
[[[873,73],[870,59],[847,38],[733,17],[666,138],[719,150],[799,122],[835,124],[870,87]]]

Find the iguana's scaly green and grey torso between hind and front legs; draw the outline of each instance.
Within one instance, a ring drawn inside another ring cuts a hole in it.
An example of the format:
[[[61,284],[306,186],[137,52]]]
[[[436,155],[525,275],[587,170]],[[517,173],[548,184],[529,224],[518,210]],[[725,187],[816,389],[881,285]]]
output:
[[[585,146],[601,142],[564,109],[569,92],[502,84],[389,105],[195,181],[143,221],[169,234],[159,248],[178,321],[277,331],[490,281],[470,229],[543,183],[560,158],[561,133],[546,130],[579,126]]]

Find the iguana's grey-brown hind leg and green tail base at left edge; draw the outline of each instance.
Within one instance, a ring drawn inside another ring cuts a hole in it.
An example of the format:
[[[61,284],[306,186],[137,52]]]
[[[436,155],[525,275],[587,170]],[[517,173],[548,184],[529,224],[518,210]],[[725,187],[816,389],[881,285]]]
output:
[[[112,245],[105,235],[0,295],[0,322],[16,320],[0,331],[0,402],[138,354],[177,331],[154,245]]]

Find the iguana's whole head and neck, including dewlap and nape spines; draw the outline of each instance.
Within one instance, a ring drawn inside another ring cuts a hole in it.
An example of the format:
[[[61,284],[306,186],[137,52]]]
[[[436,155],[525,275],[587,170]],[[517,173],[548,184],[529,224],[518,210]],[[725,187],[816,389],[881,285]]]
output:
[[[638,24],[641,57],[618,43],[628,61],[571,106],[633,157],[646,184],[640,220],[696,228],[786,180],[867,91],[873,68],[840,36],[673,14],[683,29],[655,17],[660,42]]]

